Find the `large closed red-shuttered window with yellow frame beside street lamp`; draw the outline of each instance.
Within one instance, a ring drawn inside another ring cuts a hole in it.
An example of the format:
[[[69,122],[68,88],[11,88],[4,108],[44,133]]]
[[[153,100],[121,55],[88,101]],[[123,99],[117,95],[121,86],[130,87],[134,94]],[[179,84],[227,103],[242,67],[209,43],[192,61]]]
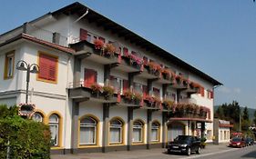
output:
[[[50,83],[56,83],[57,76],[57,57],[39,53],[38,79]]]

